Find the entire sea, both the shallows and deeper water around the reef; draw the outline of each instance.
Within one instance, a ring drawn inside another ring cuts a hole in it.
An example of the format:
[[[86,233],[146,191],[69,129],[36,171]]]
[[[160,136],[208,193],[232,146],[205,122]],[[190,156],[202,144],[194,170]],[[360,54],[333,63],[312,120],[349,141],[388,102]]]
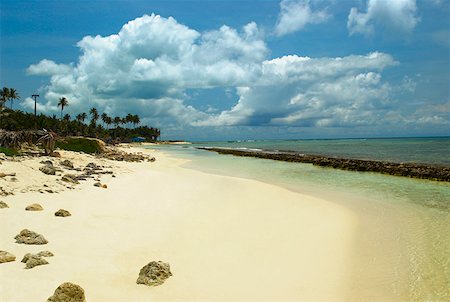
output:
[[[450,166],[450,138],[264,140],[150,147],[188,159],[184,167],[189,169],[274,184],[332,200],[356,213],[360,232],[355,246],[365,248],[354,252],[354,291],[366,298],[363,300],[377,301],[376,292],[385,291],[393,301],[450,301],[450,183],[218,155],[196,147]]]

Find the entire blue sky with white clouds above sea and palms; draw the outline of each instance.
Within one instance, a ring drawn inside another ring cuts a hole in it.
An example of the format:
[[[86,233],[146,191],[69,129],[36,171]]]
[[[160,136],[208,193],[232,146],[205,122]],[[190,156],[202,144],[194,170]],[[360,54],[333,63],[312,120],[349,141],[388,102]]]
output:
[[[450,135],[448,0],[0,0],[13,108],[163,139]]]

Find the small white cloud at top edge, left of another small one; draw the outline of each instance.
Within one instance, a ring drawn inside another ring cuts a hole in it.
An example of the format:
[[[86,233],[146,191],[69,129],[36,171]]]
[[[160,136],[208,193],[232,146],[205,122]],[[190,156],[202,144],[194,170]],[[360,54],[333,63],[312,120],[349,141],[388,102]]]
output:
[[[323,23],[328,19],[326,10],[313,10],[309,0],[282,0],[275,34],[284,36],[301,30],[307,24]]]

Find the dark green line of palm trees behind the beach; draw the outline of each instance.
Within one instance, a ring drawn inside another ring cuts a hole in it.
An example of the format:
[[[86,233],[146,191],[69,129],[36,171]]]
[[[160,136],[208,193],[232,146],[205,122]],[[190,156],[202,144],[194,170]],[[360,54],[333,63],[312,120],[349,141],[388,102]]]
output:
[[[69,106],[69,100],[61,97],[58,107],[61,108],[59,119],[56,115],[34,114],[20,110],[12,110],[14,100],[20,99],[18,92],[13,88],[3,88],[0,94],[0,128],[9,131],[47,129],[60,136],[88,136],[103,139],[108,142],[127,142],[133,137],[144,137],[147,141],[155,141],[160,136],[160,130],[148,126],[139,126],[140,117],[135,114],[126,114],[123,117],[100,114],[93,107],[88,113],[82,112],[72,118],[64,115],[64,109]],[[10,101],[10,108],[4,105]],[[114,125],[114,127],[112,127]]]

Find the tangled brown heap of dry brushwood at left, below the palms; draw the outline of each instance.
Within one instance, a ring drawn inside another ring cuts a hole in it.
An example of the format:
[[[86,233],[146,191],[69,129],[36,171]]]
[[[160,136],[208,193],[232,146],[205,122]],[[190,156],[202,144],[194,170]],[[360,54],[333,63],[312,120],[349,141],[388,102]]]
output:
[[[42,145],[46,154],[55,149],[56,133],[42,130],[6,131],[0,129],[0,146],[19,149],[23,144]]]

